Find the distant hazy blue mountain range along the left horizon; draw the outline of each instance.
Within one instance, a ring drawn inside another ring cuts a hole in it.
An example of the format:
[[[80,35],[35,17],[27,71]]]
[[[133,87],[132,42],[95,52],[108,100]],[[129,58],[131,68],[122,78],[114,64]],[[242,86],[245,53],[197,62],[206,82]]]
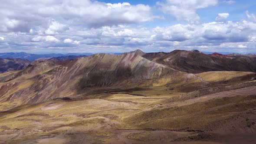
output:
[[[50,54],[30,54],[26,52],[6,52],[0,53],[0,58],[15,58],[15,59],[28,59],[30,61],[34,61],[40,58],[53,58],[53,57],[60,57],[60,56],[90,56],[92,53],[68,53],[68,54],[60,54],[60,53],[50,53]]]

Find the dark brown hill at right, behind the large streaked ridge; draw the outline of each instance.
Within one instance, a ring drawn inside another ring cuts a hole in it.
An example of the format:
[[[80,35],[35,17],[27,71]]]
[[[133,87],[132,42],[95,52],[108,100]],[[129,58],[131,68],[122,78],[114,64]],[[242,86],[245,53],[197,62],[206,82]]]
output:
[[[256,72],[256,58],[248,56],[228,58],[185,50],[174,50],[169,53],[147,53],[143,57],[188,73],[210,71]]]

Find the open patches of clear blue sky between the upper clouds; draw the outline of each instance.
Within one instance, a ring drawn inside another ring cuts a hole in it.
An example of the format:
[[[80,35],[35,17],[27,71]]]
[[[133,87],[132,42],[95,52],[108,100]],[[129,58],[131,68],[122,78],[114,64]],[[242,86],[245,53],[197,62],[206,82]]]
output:
[[[147,25],[156,26],[168,26],[170,24],[185,23],[182,21],[176,21],[172,16],[161,13],[160,8],[156,5],[158,1],[161,0],[98,0],[105,3],[124,3],[128,2],[134,5],[145,4],[153,8],[154,13],[160,16],[164,16],[165,20],[154,20],[153,23],[147,23]],[[229,0],[227,0],[229,1]],[[246,18],[245,11],[248,10],[251,13],[256,13],[256,1],[255,0],[232,0],[233,3],[223,3],[223,0],[219,0],[219,3],[213,7],[207,7],[197,10],[197,14],[201,17],[202,21],[205,23],[212,22],[218,13],[229,13],[230,16],[226,20],[239,21]]]

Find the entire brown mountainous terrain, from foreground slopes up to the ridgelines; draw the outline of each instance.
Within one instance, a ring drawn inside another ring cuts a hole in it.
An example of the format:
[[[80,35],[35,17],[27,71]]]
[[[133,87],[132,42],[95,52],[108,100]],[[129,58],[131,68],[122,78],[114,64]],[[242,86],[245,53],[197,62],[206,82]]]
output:
[[[196,50],[36,60],[0,74],[0,143],[254,144],[255,61]]]

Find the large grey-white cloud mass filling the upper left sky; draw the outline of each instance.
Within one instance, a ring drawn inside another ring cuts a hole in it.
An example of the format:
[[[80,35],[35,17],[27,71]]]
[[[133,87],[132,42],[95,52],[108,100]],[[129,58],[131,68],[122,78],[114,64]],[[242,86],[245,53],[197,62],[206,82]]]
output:
[[[96,0],[9,0],[0,6],[0,32],[29,32],[34,28],[46,35],[55,35],[68,29],[70,24],[97,28],[143,23],[156,18],[151,11],[151,7],[144,4],[112,4]]]

